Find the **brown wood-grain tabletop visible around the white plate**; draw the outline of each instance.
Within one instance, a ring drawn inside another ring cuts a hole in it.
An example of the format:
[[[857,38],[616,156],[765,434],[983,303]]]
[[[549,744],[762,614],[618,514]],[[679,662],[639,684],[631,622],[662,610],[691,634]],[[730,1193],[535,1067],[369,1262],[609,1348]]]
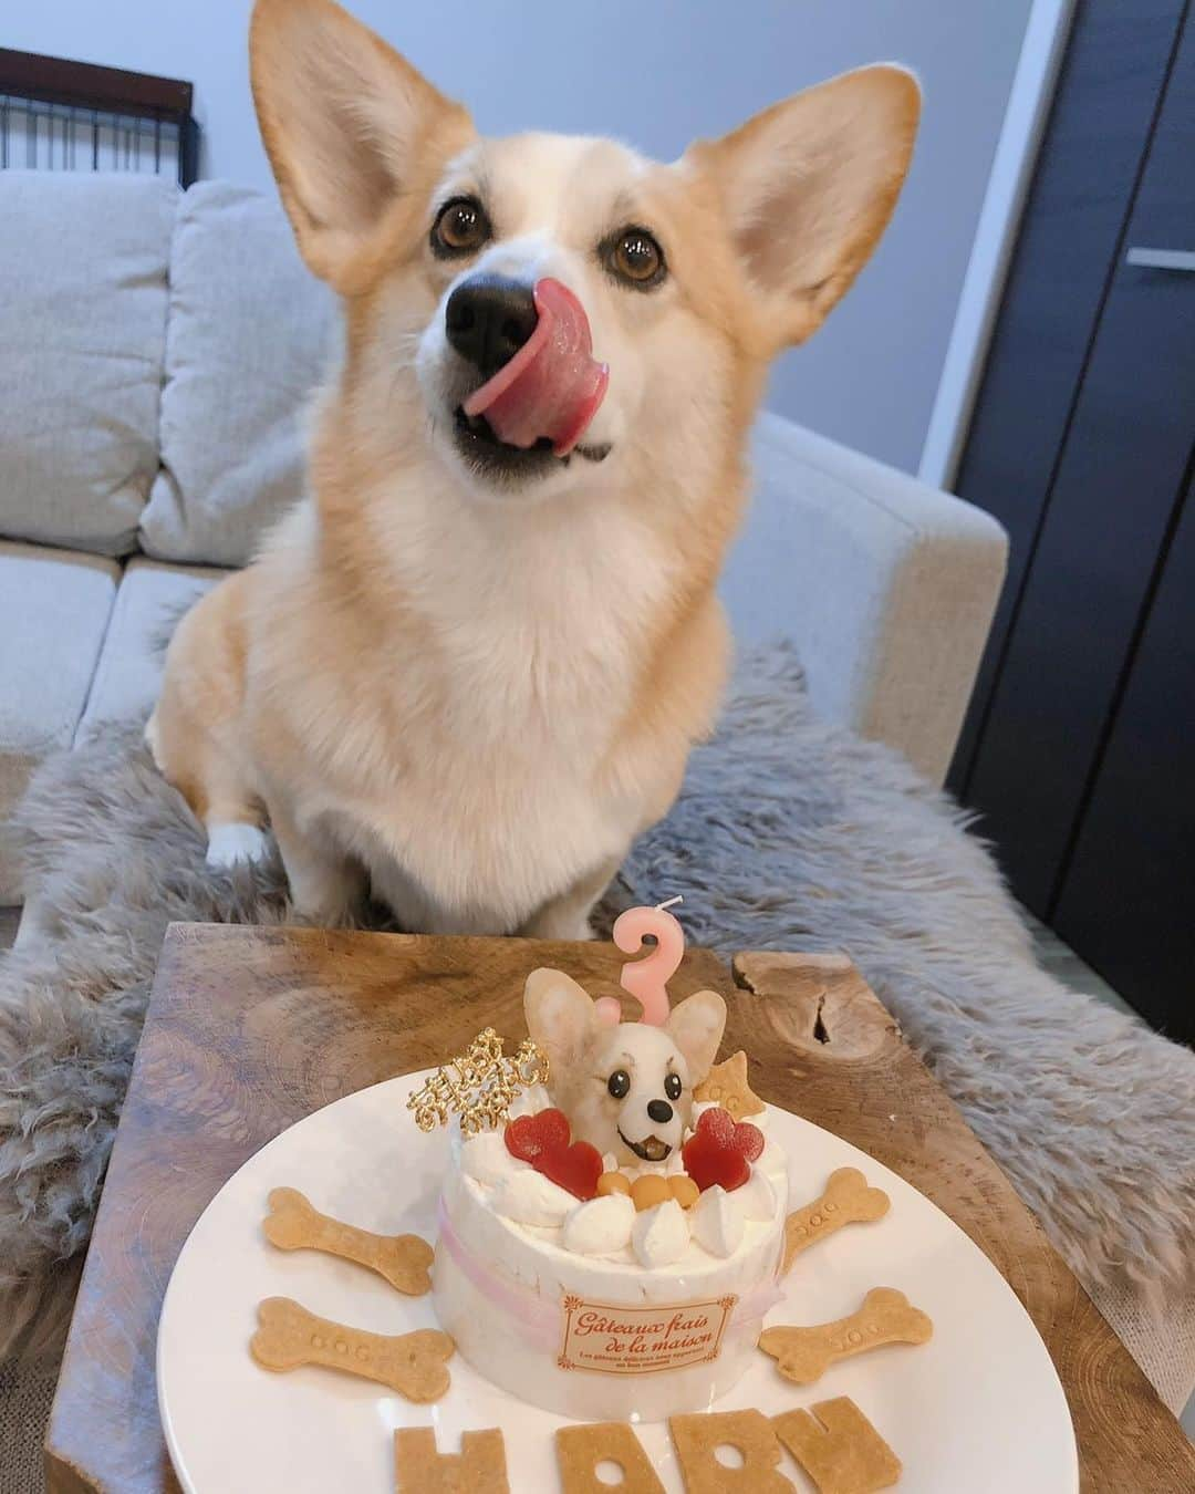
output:
[[[191,1225],[248,1156],[342,1095],[442,1062],[482,1026],[521,1037],[535,965],[617,995],[623,961],[611,944],[172,928],[51,1418],[51,1494],[178,1488],[157,1415],[158,1312]],[[854,967],[742,955],[732,977],[690,950],[672,995],[701,986],[730,996],[724,1050],[750,1052],[762,1098],[907,1177],[1005,1274],[1059,1369],[1084,1494],[1189,1494],[1195,1451],[1179,1424]]]

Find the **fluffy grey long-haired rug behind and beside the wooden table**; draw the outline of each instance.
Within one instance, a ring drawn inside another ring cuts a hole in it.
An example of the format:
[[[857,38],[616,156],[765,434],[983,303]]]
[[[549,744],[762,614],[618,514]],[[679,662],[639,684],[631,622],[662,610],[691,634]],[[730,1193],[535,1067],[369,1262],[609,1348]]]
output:
[[[167,922],[287,916],[276,867],[205,870],[137,734],[49,762],[18,826],[43,932],[0,956],[0,1357],[61,1333]],[[1046,976],[962,814],[819,722],[789,650],[741,660],[623,881],[683,892],[690,940],[726,953],[847,950],[1105,1304],[1156,1322],[1195,1286],[1195,1055]]]

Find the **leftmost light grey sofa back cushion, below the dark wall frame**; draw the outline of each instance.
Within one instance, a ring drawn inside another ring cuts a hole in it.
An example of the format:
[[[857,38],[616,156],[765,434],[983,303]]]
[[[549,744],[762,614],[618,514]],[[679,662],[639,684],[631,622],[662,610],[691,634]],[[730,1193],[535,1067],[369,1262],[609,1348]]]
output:
[[[0,172],[0,535],[134,547],[178,196],[158,176]]]

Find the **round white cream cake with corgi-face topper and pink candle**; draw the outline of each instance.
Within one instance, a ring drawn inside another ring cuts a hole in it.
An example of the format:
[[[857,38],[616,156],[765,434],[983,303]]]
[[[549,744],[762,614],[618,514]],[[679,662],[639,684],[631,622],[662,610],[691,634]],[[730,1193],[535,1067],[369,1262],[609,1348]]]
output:
[[[741,1055],[714,1067],[721,996],[669,1007],[680,925],[636,908],[615,943],[645,932],[659,947],[623,976],[641,1020],[530,974],[530,1082],[500,1118],[454,1123],[439,1206],[441,1327],[490,1380],[572,1418],[708,1409],[778,1297],[784,1153]]]

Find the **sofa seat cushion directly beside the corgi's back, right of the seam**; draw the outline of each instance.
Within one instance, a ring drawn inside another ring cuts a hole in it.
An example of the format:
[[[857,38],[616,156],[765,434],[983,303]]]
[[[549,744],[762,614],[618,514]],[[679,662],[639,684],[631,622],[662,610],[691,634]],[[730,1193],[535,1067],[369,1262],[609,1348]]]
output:
[[[146,717],[158,695],[173,624],[227,572],[134,556],[124,572],[76,743],[112,722]]]

